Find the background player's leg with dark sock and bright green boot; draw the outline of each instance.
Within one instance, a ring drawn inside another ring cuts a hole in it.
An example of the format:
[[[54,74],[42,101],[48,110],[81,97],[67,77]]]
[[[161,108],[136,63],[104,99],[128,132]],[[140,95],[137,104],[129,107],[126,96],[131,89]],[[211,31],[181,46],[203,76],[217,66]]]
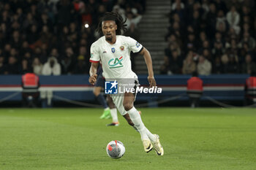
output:
[[[99,80],[99,79],[98,79]],[[97,80],[97,83],[99,82]],[[101,86],[95,85],[94,87],[94,96],[97,98],[97,101],[99,101],[100,104],[102,104],[102,107],[104,107],[104,112],[100,116],[101,119],[108,119],[111,117],[110,115],[110,108],[108,107],[107,101],[105,100],[105,97],[100,93],[102,90]]]

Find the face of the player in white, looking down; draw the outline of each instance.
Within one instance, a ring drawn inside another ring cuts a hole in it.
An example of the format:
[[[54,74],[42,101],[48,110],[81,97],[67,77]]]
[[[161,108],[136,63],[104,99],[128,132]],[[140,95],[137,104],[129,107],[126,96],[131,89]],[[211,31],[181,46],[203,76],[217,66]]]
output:
[[[116,22],[113,20],[105,20],[102,22],[102,32],[107,40],[112,40],[116,36]]]

